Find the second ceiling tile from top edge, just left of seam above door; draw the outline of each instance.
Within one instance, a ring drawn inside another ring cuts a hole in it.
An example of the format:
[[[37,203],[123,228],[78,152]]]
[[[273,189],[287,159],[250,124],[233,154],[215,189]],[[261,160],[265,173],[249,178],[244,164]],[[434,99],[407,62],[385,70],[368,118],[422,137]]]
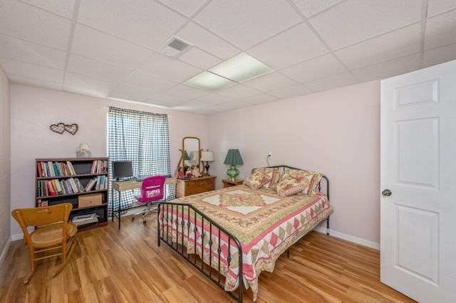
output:
[[[336,50],[348,68],[361,68],[420,51],[420,23]]]

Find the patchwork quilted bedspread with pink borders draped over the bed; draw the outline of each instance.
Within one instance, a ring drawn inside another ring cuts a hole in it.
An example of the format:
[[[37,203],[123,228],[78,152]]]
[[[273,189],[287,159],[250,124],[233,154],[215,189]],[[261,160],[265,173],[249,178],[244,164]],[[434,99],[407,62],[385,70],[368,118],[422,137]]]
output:
[[[252,288],[254,299],[257,298],[258,276],[261,271],[272,272],[282,252],[333,212],[323,193],[317,193],[316,196],[280,197],[275,191],[252,190],[244,185],[187,196],[172,202],[192,204],[237,237],[242,246],[242,281],[246,288]],[[177,209],[168,210],[168,216],[172,219],[165,223],[160,220],[160,225],[167,225],[165,230],[168,230],[173,239],[182,240],[183,237],[188,253],[196,252],[204,260],[211,257],[212,265],[217,264],[216,250],[220,246],[224,260],[220,271],[227,277],[225,290],[236,289],[239,286],[239,264],[235,243],[230,241],[228,245],[226,236],[219,238],[217,230],[209,230],[209,225],[202,224],[201,218],[192,211],[182,216]],[[185,222],[190,220],[190,229],[176,223],[182,221],[182,218]],[[196,233],[193,231],[195,218]],[[208,244],[209,239],[216,243],[212,249]],[[228,255],[232,256],[229,264],[226,261]]]

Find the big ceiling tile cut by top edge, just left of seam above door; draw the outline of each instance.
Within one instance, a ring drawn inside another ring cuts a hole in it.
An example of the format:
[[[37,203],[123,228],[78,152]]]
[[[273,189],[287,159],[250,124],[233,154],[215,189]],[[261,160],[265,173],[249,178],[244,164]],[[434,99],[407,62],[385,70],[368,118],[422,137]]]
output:
[[[310,22],[336,50],[420,21],[420,16],[421,5],[417,5],[417,0],[348,0]]]

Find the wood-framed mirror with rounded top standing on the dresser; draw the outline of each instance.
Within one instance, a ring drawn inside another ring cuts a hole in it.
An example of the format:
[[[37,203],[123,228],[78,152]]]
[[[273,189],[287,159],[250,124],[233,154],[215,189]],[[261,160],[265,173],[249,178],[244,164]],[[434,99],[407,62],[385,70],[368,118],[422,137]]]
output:
[[[197,137],[185,137],[182,139],[182,149],[179,149],[181,156],[179,164],[177,164],[177,171],[179,167],[186,174],[187,170],[192,171],[192,175],[195,175],[195,166],[197,167],[198,176],[204,173],[204,166],[200,163],[201,151],[199,146],[199,138]],[[203,171],[201,171],[201,169]]]

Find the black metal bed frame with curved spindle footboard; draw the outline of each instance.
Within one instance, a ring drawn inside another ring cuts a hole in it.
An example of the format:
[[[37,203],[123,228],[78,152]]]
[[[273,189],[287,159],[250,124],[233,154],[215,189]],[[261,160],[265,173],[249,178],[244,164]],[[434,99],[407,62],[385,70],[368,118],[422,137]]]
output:
[[[296,169],[294,167],[287,166],[287,165],[269,166],[269,167],[270,168],[282,169],[282,171],[284,169]],[[252,171],[254,171],[254,169]],[[326,181],[326,197],[329,200],[329,180],[328,180],[328,178],[326,176],[323,176],[322,180],[323,179]],[[321,181],[320,181],[320,183],[318,183],[318,191],[321,191]],[[199,257],[197,255],[197,245],[198,245],[197,244],[198,243],[198,241],[197,241],[197,227],[195,225],[195,228],[193,228],[193,230],[190,230],[190,225],[191,225],[190,218],[187,221],[182,219],[179,222],[180,218],[177,217],[177,219],[176,219],[177,221],[175,223],[176,223],[176,225],[181,225],[182,237],[180,239],[179,236],[177,236],[177,241],[176,242],[172,241],[172,238],[170,237],[170,235],[168,233],[168,231],[169,231],[168,227],[167,227],[168,225],[164,225],[163,224],[165,222],[170,222],[170,220],[172,220],[172,218],[169,218],[167,216],[167,214],[170,213],[170,211],[180,211],[181,213],[185,212],[185,213],[189,213],[190,214],[190,209],[195,212],[195,215],[193,217],[194,222],[196,222],[197,216],[201,216],[202,217],[202,230],[204,230],[204,225],[209,225],[209,234],[212,235],[212,230],[214,228],[217,228],[219,239],[223,235],[228,238],[227,245],[228,245],[228,254],[229,255],[227,257],[227,260],[225,260],[227,262],[227,264],[228,264],[228,267],[229,267],[229,264],[233,261],[232,260],[232,253],[231,253],[230,248],[231,248],[232,245],[236,245],[237,246],[238,254],[239,254],[239,259],[238,259],[239,275],[238,275],[238,278],[237,278],[238,279],[238,287],[234,291],[227,291],[227,293],[233,299],[235,299],[237,302],[242,302],[242,295],[243,295],[243,292],[244,292],[244,284],[243,284],[243,281],[242,281],[242,246],[241,246],[241,243],[239,243],[239,240],[236,238],[236,236],[232,235],[232,233],[229,233],[229,231],[227,231],[224,228],[222,228],[222,226],[220,226],[217,222],[215,222],[214,220],[212,220],[208,216],[204,215],[204,213],[200,212],[197,208],[195,208],[194,206],[192,206],[192,205],[190,205],[188,203],[180,203],[180,202],[172,202],[172,201],[162,201],[162,202],[160,202],[160,204],[158,206],[158,216],[157,216],[157,228],[158,228],[158,230],[157,230],[157,235],[158,235],[157,244],[158,244],[158,246],[160,246],[161,242],[166,243],[167,245],[170,246],[170,248],[172,248],[172,250],[175,250],[179,255],[184,257],[185,260],[190,262],[190,264],[192,264],[194,267],[196,267],[197,270],[202,272],[212,282],[214,282],[220,288],[224,289],[224,283],[222,282],[222,280],[224,279],[224,276],[220,273],[220,268],[221,268],[221,265],[222,265],[222,260],[220,259],[222,249],[220,248],[220,244],[218,245],[217,248],[212,250],[212,245],[214,245],[214,243],[212,243],[212,240],[209,240],[209,243],[208,243],[209,251],[210,252],[217,251],[217,253],[219,254],[218,255],[217,264],[214,264],[212,262],[212,257],[211,257],[212,253],[209,253],[209,260],[204,260],[204,253],[201,254],[201,257]],[[160,213],[162,213],[162,212],[164,212],[166,215],[163,216],[160,219]],[[162,226],[164,226],[164,228],[160,229],[160,226],[161,226],[160,223],[162,223]],[[188,235],[190,235],[190,233],[195,233],[195,253],[193,253],[193,254],[190,254],[190,253],[186,252],[185,243],[184,243],[184,238],[185,237],[183,236],[185,228],[187,228],[187,234]],[[311,230],[313,230],[314,228],[312,228]],[[311,230],[309,230],[309,232]],[[309,232],[307,232],[307,233],[309,233]],[[301,238],[303,238],[307,233],[302,235]],[[329,235],[329,216],[326,217],[326,235]],[[204,233],[202,233],[200,238],[201,238],[201,245],[200,245],[201,246],[201,251],[204,251]],[[301,238],[296,240],[294,243],[299,241]],[[291,247],[291,245],[290,245],[290,247]],[[289,257],[289,249],[287,249],[286,252],[287,252],[287,257]]]

